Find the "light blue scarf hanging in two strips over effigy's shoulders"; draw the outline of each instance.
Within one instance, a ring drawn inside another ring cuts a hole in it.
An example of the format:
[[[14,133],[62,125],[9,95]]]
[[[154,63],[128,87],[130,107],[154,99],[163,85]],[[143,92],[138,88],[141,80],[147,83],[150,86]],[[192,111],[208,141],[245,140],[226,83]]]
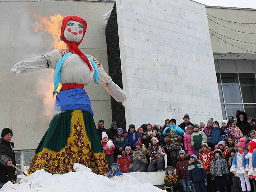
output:
[[[84,52],[83,52],[84,53]],[[68,52],[66,53],[63,57],[61,57],[57,64],[56,64],[56,68],[54,70],[54,74],[53,74],[53,85],[54,85],[54,90],[52,92],[52,94],[54,95],[57,92],[57,88],[58,85],[60,84],[60,69],[62,67],[63,62],[67,59],[68,56],[72,55],[73,53]],[[87,54],[84,53],[84,55],[86,57],[88,57],[88,59],[91,61],[92,63],[92,67],[94,68],[94,74],[93,74],[93,80],[95,83],[99,84],[99,71],[98,71],[98,66],[97,64],[94,62],[94,60],[92,60]]]

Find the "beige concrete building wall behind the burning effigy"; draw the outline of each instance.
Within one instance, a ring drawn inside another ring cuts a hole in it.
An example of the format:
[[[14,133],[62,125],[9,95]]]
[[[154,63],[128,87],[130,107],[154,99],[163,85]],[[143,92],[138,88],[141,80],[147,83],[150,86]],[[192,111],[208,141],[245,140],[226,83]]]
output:
[[[102,15],[113,2],[0,2],[0,129],[13,130],[15,149],[35,149],[48,128],[51,117],[43,115],[42,97],[36,92],[47,84],[47,69],[29,74],[12,74],[10,69],[20,60],[32,58],[53,49],[52,37],[36,33],[33,29],[34,15],[50,17],[55,13],[77,15],[87,21],[87,32],[79,46],[82,51],[97,58],[108,72],[105,24]],[[39,80],[43,84],[38,84]],[[94,120],[112,122],[110,96],[100,85],[92,83],[85,87],[92,101]],[[49,94],[51,94],[49,92]]]

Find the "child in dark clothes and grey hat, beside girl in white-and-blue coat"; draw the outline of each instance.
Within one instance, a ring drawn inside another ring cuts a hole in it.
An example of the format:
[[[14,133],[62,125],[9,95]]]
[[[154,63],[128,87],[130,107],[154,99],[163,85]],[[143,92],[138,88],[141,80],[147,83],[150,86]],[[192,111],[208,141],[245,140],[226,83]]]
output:
[[[231,148],[229,151],[230,157],[228,158],[228,170],[230,170],[234,156],[237,152],[236,148]],[[235,177],[233,172],[228,173],[229,183],[231,184],[230,190],[232,192],[242,192],[241,181],[239,177]]]

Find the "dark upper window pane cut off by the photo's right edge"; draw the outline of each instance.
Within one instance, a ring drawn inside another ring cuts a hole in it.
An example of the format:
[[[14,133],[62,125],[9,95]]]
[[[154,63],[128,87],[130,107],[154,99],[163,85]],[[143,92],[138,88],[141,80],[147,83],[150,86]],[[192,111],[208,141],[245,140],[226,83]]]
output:
[[[256,103],[256,82],[254,73],[239,73],[244,103]]]

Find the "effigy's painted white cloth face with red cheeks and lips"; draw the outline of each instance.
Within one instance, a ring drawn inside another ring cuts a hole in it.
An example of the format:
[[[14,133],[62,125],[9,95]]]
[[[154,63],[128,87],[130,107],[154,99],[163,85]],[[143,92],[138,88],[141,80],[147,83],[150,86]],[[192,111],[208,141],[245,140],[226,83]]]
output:
[[[64,37],[69,42],[78,43],[84,36],[84,24],[74,20],[68,20],[64,30]]]

